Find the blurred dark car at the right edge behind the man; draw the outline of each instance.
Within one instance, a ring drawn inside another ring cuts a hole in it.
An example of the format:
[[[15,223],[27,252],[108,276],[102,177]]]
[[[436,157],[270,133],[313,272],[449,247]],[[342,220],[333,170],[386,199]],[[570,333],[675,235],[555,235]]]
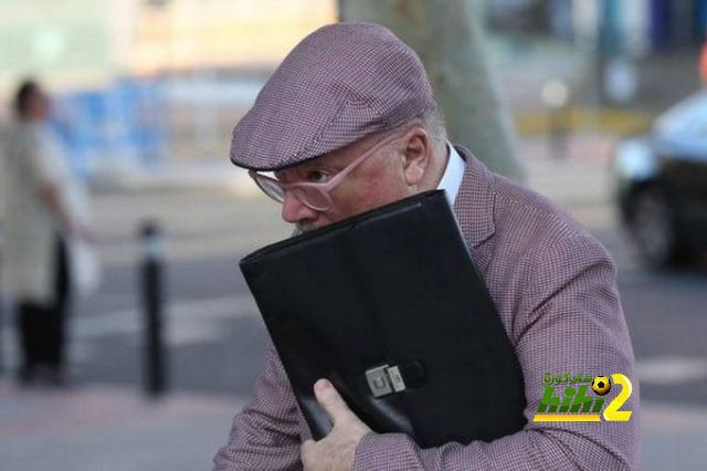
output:
[[[613,160],[622,221],[645,261],[692,261],[707,248],[707,91],[626,138]]]

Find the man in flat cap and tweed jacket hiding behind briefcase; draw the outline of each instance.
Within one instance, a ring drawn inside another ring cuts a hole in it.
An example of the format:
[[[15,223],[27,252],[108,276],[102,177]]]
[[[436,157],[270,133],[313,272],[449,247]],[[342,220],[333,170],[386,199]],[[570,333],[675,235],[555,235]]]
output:
[[[532,421],[548,371],[635,378],[610,255],[545,198],[446,143],[422,64],[390,31],[339,23],[306,38],[236,125],[231,159],[302,231],[445,189],[523,368],[528,422],[490,443],[422,450],[370,431],[321,379],[315,395],[334,429],[314,442],[271,346],[217,470],[637,468],[635,389],[629,421]]]

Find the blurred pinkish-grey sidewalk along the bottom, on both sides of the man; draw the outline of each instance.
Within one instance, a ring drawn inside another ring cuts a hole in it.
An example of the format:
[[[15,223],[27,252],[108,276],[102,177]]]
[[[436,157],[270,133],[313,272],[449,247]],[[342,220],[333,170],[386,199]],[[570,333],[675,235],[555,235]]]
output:
[[[245,398],[94,385],[67,391],[19,390],[0,379],[3,471],[192,471],[211,469]],[[644,404],[644,470],[703,469],[707,410]]]

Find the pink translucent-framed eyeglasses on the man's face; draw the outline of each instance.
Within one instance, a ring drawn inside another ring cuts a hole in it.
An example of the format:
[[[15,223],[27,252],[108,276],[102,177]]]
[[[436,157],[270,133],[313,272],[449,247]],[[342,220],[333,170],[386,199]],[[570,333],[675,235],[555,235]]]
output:
[[[285,193],[289,192],[297,198],[306,207],[315,211],[328,211],[334,202],[331,201],[330,191],[337,187],[347,175],[354,171],[358,166],[363,164],[370,156],[376,154],[386,145],[392,143],[397,138],[403,136],[404,133],[397,133],[381,139],[363,155],[357,157],[352,163],[346,166],[341,171],[336,174],[334,178],[324,184],[314,184],[309,181],[283,184],[275,178],[267,177],[253,170],[249,170],[249,175],[261,190],[277,202],[285,202]]]

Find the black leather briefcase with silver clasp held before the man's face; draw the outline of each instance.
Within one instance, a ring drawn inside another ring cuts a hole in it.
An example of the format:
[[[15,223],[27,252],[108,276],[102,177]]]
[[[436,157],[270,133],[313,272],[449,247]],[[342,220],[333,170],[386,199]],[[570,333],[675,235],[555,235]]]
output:
[[[523,428],[523,374],[444,191],[374,209],[243,259],[315,439],[331,380],[377,432],[422,448]]]

